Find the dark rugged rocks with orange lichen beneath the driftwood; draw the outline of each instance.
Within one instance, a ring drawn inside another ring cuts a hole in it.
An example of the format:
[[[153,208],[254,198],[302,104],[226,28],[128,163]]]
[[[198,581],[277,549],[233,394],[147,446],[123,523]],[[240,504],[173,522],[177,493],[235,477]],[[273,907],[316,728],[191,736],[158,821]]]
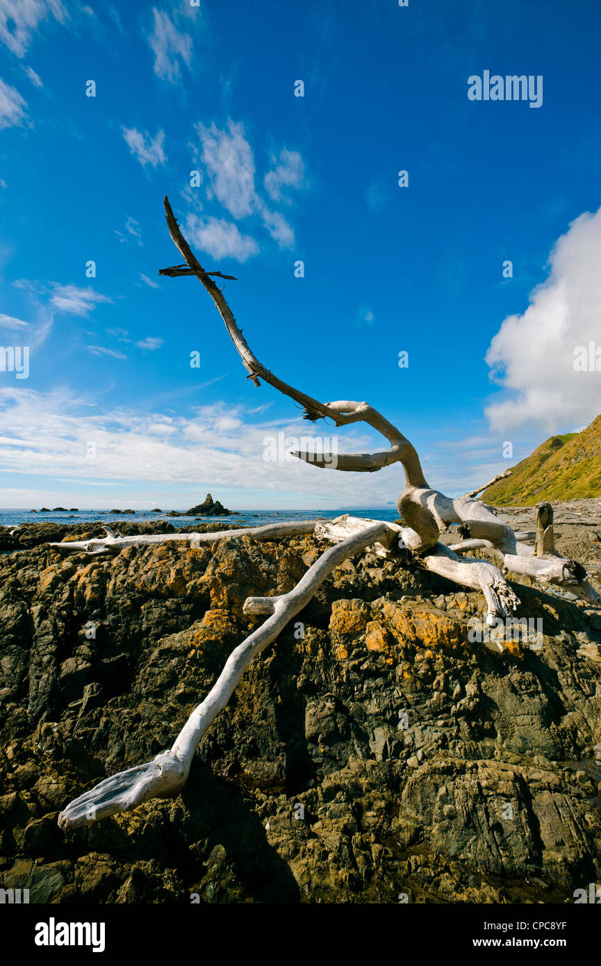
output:
[[[558,549],[601,589],[590,503],[565,524],[556,511]],[[53,903],[553,903],[599,881],[601,611],[525,578],[519,615],[542,621],[542,646],[472,642],[480,594],[370,554],[249,668],[180,797],[63,833],[73,797],[172,744],[261,620],[244,599],[290,590],[326,549],[45,546],[102,532],[0,529],[4,888]]]

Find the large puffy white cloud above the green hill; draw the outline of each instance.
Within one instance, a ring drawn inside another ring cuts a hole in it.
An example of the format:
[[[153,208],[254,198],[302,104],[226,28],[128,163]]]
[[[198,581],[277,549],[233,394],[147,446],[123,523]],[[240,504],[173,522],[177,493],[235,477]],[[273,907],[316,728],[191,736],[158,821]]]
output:
[[[549,265],[529,307],[504,320],[486,355],[492,378],[505,389],[486,410],[501,432],[527,423],[558,432],[587,424],[601,410],[601,374],[574,367],[578,347],[601,348],[601,209],[572,222]]]

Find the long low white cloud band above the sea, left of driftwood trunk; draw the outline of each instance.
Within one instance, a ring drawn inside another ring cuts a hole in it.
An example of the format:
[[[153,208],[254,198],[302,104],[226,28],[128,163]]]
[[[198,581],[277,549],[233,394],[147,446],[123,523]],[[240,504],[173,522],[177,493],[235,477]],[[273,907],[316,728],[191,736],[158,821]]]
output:
[[[39,393],[11,386],[0,388],[0,420],[6,427],[0,472],[82,482],[123,480],[128,486],[136,481],[198,486],[203,480],[211,488],[240,488],[242,480],[249,491],[272,491],[274,496],[296,492],[304,495],[305,504],[317,499],[318,505],[377,505],[390,498],[391,489],[394,492],[394,469],[383,473],[381,480],[376,473],[361,473],[360,478],[358,473],[336,473],[332,487],[334,470],[299,460],[266,461],[266,439],[277,440],[278,432],[284,433],[283,456],[294,445],[294,440],[287,445],[285,440],[321,439],[324,428],[307,426],[301,418],[283,425],[252,422],[242,408],[232,410],[226,404],[200,407],[192,417],[132,409],[91,413],[65,390]],[[339,450],[364,451],[377,445],[372,431],[361,430],[345,429]],[[325,432],[330,434],[331,429]],[[85,455],[90,441],[96,445],[94,460]],[[400,476],[397,468],[399,488]],[[18,498],[15,501],[19,505]]]

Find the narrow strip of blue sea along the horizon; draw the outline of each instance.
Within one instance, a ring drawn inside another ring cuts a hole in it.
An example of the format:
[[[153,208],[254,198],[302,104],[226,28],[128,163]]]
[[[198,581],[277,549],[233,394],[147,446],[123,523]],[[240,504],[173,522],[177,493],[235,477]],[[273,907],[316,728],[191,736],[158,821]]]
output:
[[[136,510],[135,513],[109,513],[106,510],[51,510],[32,513],[31,509],[14,510],[0,509],[0,526],[18,526],[19,524],[52,523],[52,524],[93,524],[101,521],[103,524],[118,527],[121,521],[139,521],[150,523],[155,520],[165,520],[173,526],[188,526],[191,523],[223,525],[237,524],[241,526],[265,526],[267,524],[284,523],[295,520],[334,520],[349,513],[354,517],[367,517],[369,520],[386,520],[391,523],[398,518],[398,510],[394,504],[369,508],[345,507],[338,510],[239,510],[228,517],[167,517],[166,511],[151,513],[149,510]]]

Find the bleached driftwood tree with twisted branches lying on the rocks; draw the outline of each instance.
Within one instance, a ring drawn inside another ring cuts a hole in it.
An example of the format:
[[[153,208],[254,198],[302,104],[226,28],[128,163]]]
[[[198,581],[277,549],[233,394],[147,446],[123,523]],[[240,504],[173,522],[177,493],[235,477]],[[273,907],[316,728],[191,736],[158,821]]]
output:
[[[415,565],[439,574],[450,581],[481,590],[487,604],[487,623],[494,624],[511,615],[519,599],[506,582],[503,572],[528,575],[543,585],[556,584],[568,588],[577,596],[597,602],[599,596],[587,582],[585,568],[574,560],[557,554],[553,537],[553,509],[540,504],[536,509],[536,541],[532,549],[524,542],[523,534],[516,534],[498,519],[494,510],[472,498],[479,490],[464,497],[451,499],[427,483],[415,447],[380,412],[365,402],[338,400],[321,403],[304,392],[283,383],[252,353],[242,330],[213,277],[232,278],[221,272],[205,271],[191,251],[173,215],[168,199],[164,208],[169,234],[179,250],[184,264],[159,272],[162,275],[195,275],[203,284],[225,323],[236,349],[248,370],[247,378],[255,385],[260,380],[269,383],[284,395],[300,403],[304,418],[315,422],[329,417],[337,427],[365,422],[381,433],[389,445],[375,453],[348,453],[331,461],[329,455],[315,458],[314,454],[296,452],[295,455],[324,469],[347,472],[375,472],[393,463],[400,463],[405,471],[405,487],[398,500],[403,526],[384,521],[339,517],[331,523],[307,521],[270,526],[224,530],[213,533],[169,533],[119,537],[108,527],[102,539],[70,541],[52,544],[61,551],[84,551],[87,554],[115,554],[132,544],[156,544],[173,540],[187,541],[190,547],[202,542],[214,543],[242,535],[259,540],[272,540],[299,534],[314,533],[329,540],[333,546],[311,566],[297,586],[287,594],[273,597],[250,597],[243,610],[248,614],[266,614],[267,620],[242,641],[228,658],[210,693],[194,709],[173,747],[157,754],[150,762],[119,772],[100,781],[91,790],[72,801],[59,815],[64,829],[89,825],[118,811],[136,808],[152,798],[176,795],[186,779],[199,741],[225,707],[246,668],[253,658],[280,634],[285,625],[302,610],[329,574],[354,554],[372,548],[381,555],[403,553]],[[459,525],[462,539],[451,547],[439,537],[450,524]],[[496,563],[465,554],[483,551]]]

